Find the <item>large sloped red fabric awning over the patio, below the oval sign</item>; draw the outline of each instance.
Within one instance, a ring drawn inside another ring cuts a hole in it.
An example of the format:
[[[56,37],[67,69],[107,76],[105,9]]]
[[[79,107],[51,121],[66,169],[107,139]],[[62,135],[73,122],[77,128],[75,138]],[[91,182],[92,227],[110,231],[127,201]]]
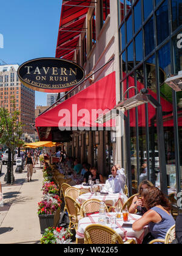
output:
[[[60,133],[60,129],[66,128],[67,130],[91,130],[92,127],[114,126],[113,121],[103,125],[96,124],[95,121],[101,113],[112,110],[115,105],[116,88],[115,72],[113,72],[36,118],[35,126],[39,139],[52,140],[54,127]]]

